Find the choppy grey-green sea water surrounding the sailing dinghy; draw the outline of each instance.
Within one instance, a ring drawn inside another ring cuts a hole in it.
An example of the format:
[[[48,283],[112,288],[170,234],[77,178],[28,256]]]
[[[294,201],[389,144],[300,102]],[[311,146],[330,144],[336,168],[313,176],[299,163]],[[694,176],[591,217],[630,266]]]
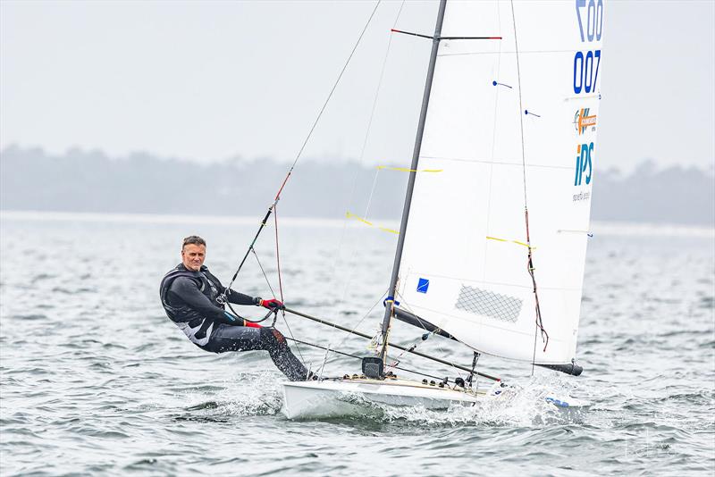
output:
[[[512,387],[499,401],[431,412],[290,421],[265,353],[194,347],[159,305],[181,238],[208,241],[224,282],[257,221],[4,213],[0,228],[0,473],[450,475],[706,474],[715,471],[715,245],[712,231],[594,227],[578,378],[484,356]],[[671,230],[672,232],[672,230]],[[278,294],[273,229],[258,257]],[[293,308],[374,334],[395,238],[339,222],[286,222],[282,286]],[[251,256],[236,289],[273,295]],[[244,310],[258,316],[257,309]],[[367,315],[367,316],[366,316]],[[285,334],[365,355],[288,315]],[[361,321],[362,320],[362,321]],[[290,326],[290,330],[289,330]],[[419,332],[396,325],[392,339]],[[439,337],[419,350],[470,363]],[[295,348],[295,347],[294,347]],[[317,367],[324,353],[299,347]],[[403,364],[451,373],[420,358]],[[326,372],[357,372],[332,356]],[[593,402],[566,415],[551,392]]]

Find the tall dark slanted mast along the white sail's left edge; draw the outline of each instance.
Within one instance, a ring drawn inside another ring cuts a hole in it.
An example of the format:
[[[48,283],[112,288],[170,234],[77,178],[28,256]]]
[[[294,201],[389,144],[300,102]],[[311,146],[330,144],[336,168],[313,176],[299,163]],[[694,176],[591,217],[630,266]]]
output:
[[[392,276],[390,279],[390,288],[388,289],[387,300],[385,301],[385,315],[383,318],[383,347],[380,351],[380,357],[383,360],[387,358],[387,343],[388,331],[390,330],[390,322],[392,319],[394,300],[397,295],[397,280],[400,274],[400,260],[402,259],[402,248],[405,246],[405,231],[408,228],[409,206],[412,204],[412,191],[415,189],[415,177],[417,171],[417,163],[419,162],[419,153],[422,148],[422,136],[425,132],[425,120],[427,117],[427,106],[430,103],[430,92],[432,91],[432,79],[434,77],[434,65],[437,63],[437,50],[440,47],[440,36],[442,35],[442,21],[444,21],[444,8],[447,0],[440,0],[440,9],[437,13],[437,23],[434,26],[434,36],[432,38],[432,53],[430,54],[430,64],[427,69],[427,79],[425,80],[425,92],[422,96],[422,109],[419,113],[419,123],[417,125],[417,136],[415,138],[415,149],[412,153],[412,164],[410,166],[407,194],[405,195],[405,205],[402,207],[402,220],[400,222],[400,235],[397,241],[397,250],[395,251],[395,261],[392,264]]]

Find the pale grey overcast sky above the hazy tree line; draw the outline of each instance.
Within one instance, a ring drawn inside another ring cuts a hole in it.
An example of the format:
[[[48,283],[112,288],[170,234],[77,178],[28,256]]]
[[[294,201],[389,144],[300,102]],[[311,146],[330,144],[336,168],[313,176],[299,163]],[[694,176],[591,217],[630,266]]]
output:
[[[569,0],[570,1],[570,0]],[[0,2],[0,146],[291,160],[374,2]],[[357,157],[389,29],[383,2],[306,155]],[[435,2],[398,28],[431,32]],[[711,167],[715,1],[606,4],[601,166]],[[397,36],[366,163],[408,162],[429,41]]]

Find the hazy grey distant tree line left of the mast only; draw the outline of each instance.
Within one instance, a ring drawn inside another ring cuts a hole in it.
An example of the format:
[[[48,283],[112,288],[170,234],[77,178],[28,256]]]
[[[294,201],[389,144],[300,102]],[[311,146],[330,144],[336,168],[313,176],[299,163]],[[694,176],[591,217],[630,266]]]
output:
[[[93,213],[265,213],[289,165],[271,159],[201,164],[135,153],[121,159],[101,151],[6,147],[0,152],[0,208]],[[301,161],[282,194],[290,216],[336,217],[365,212],[374,168],[357,163]],[[399,215],[407,174],[375,183],[371,215]],[[395,212],[397,211],[397,212]]]

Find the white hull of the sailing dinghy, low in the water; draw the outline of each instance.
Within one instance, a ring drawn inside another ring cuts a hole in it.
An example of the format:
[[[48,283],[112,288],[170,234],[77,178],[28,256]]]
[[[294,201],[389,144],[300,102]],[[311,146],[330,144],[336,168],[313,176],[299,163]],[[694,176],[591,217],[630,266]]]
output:
[[[483,394],[479,394],[483,397]],[[474,406],[477,393],[405,380],[322,380],[283,383],[282,412],[289,419],[338,417],[366,412],[366,403],[447,409]]]

